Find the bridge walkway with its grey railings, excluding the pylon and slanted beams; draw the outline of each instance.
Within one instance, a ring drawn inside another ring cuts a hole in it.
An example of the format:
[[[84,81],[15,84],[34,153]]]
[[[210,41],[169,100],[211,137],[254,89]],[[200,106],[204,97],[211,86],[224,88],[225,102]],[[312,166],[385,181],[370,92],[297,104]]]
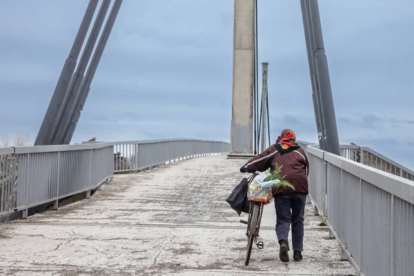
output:
[[[414,172],[370,148],[341,146],[339,157],[301,145],[311,165],[304,260],[280,262],[270,204],[261,228],[265,247],[253,250],[247,267],[246,226],[239,223],[245,218],[225,201],[246,160],[223,155],[227,143],[1,148],[1,218],[20,219],[0,226],[0,271],[413,275]],[[32,215],[39,206],[50,210]]]

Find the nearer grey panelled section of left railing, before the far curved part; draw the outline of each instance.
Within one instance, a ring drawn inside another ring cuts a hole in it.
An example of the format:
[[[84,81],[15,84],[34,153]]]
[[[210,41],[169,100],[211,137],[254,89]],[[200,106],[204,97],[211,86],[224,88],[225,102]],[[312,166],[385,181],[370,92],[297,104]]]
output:
[[[14,210],[55,202],[98,188],[112,175],[113,146],[108,143],[17,147],[18,175]]]

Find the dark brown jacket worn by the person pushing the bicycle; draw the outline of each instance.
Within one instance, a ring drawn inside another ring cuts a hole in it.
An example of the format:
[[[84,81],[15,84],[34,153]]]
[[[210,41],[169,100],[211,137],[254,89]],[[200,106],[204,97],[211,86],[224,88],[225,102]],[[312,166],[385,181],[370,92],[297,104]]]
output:
[[[272,145],[259,155],[250,159],[244,169],[246,172],[264,172],[268,168],[273,170],[275,164],[282,166],[279,176],[283,177],[290,184],[295,186],[295,190],[289,188],[274,188],[272,190],[273,197],[278,195],[308,195],[308,174],[309,161],[303,148],[296,148],[291,152],[281,154],[275,145]]]

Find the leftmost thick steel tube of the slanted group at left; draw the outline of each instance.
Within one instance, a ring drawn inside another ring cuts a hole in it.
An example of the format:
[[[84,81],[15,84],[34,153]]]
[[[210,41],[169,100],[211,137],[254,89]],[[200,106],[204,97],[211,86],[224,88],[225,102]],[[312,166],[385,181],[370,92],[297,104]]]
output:
[[[77,36],[73,42],[72,49],[70,49],[69,57],[63,65],[61,75],[52,95],[52,99],[50,99],[48,110],[46,110],[46,115],[43,118],[39,133],[34,141],[34,146],[50,145],[52,142],[51,130],[58,123],[56,120],[57,114],[62,108],[63,99],[65,98],[66,91],[68,90],[72,74],[75,71],[77,58],[81,52],[83,41],[85,41],[86,34],[88,33],[88,29],[97,5],[98,0],[89,1],[88,8],[86,8],[86,12],[83,15],[81,26],[79,27]]]

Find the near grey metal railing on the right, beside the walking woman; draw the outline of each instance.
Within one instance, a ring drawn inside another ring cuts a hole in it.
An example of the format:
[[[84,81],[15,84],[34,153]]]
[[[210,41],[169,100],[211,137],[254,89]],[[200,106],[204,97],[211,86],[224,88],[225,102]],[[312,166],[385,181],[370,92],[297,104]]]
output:
[[[411,275],[414,182],[306,146],[313,204],[365,275]]]

